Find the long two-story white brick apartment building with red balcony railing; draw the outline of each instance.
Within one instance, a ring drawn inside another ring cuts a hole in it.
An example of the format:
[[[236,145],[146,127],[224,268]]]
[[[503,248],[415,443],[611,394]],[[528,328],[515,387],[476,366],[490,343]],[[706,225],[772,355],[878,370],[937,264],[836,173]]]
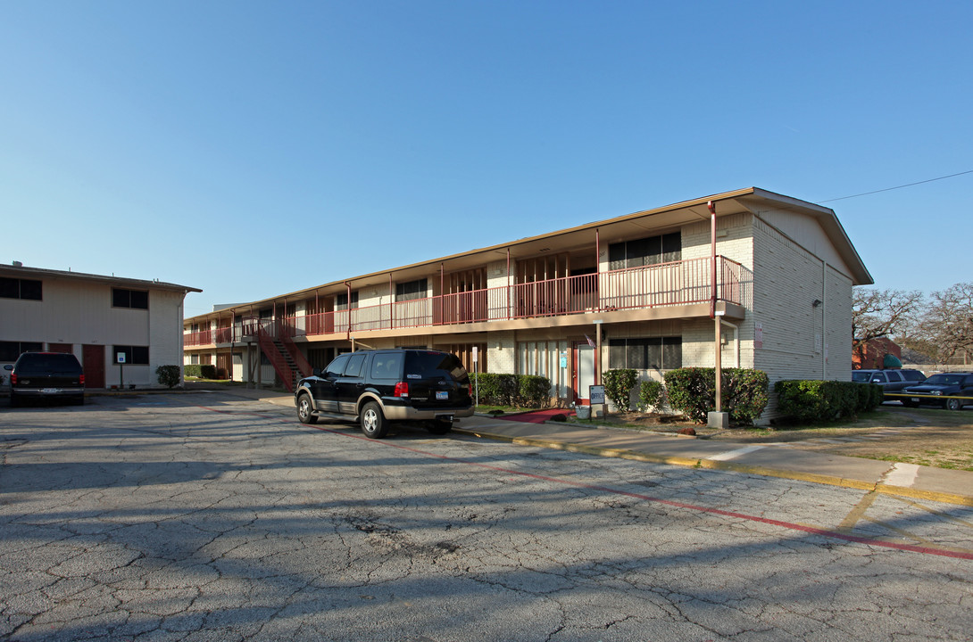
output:
[[[356,347],[421,346],[547,376],[562,402],[596,369],[717,355],[848,380],[851,287],[871,283],[832,210],[751,187],[229,306],[186,321],[186,362],[290,387]]]

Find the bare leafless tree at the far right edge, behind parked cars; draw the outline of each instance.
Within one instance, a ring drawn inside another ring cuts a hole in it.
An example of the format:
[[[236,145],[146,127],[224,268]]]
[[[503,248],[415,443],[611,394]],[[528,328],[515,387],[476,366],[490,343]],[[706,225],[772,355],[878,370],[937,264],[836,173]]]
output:
[[[973,283],[958,283],[933,292],[919,331],[936,346],[941,362],[955,355],[973,355]]]

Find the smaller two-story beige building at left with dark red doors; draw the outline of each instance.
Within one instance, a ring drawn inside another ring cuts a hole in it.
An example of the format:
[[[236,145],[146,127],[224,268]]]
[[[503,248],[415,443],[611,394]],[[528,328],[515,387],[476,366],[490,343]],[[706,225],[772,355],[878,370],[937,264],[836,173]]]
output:
[[[199,291],[0,265],[0,365],[27,351],[66,352],[81,361],[86,388],[159,387],[156,367],[182,363],[183,300]]]

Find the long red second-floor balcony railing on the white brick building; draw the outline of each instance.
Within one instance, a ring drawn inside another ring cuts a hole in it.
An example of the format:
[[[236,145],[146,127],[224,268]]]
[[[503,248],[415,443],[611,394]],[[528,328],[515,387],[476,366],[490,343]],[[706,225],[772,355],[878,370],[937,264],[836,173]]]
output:
[[[716,258],[717,300],[751,307],[752,272],[725,256]],[[258,327],[273,337],[293,338],[704,303],[709,301],[712,293],[711,271],[708,257],[693,258],[287,317],[279,323],[245,319],[232,328],[187,333],[185,345],[210,345],[214,339],[216,343],[239,342],[244,335],[256,335]]]

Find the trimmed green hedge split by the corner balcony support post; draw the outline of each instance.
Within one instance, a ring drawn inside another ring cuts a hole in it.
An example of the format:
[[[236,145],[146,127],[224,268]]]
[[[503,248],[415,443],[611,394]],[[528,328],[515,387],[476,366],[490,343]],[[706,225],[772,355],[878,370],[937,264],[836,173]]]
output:
[[[679,368],[666,375],[669,406],[694,422],[706,421],[716,406],[716,376],[713,368]],[[723,409],[734,423],[753,423],[770,401],[770,379],[763,370],[723,368],[720,389]]]

